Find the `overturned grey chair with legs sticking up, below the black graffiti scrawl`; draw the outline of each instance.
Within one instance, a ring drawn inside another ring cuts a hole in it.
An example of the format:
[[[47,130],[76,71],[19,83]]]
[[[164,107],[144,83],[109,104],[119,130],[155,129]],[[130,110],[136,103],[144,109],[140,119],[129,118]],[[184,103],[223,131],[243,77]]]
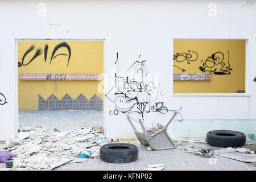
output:
[[[133,127],[133,130],[135,132],[136,137],[138,138],[139,142],[143,144],[144,146],[150,146],[152,150],[166,150],[166,149],[172,149],[176,148],[176,144],[172,140],[172,138],[167,133],[167,127],[170,125],[172,119],[174,119],[177,112],[175,111],[174,115],[172,115],[170,121],[168,121],[166,126],[163,126],[162,129],[159,131],[156,131],[155,133],[151,134],[149,131],[147,131],[141,121],[139,119],[139,123],[141,124],[143,133],[139,133],[135,126],[133,125],[133,122],[131,122],[131,118],[128,116],[128,120],[131,124],[131,127]]]

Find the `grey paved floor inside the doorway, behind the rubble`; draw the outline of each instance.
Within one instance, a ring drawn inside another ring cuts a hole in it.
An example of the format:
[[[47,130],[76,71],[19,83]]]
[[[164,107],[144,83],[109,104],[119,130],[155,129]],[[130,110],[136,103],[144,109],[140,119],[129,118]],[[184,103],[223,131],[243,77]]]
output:
[[[61,130],[103,126],[100,110],[20,110],[19,126],[42,126]]]

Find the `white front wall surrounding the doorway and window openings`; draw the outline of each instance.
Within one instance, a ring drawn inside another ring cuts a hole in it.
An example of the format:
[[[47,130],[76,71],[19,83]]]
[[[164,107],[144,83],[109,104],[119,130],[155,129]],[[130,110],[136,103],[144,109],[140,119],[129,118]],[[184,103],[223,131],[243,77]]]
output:
[[[180,129],[183,131],[188,130],[185,119],[195,119],[195,125],[199,125],[196,119],[220,119],[220,127],[221,119],[253,119],[254,122],[255,1],[214,1],[216,16],[209,15],[212,1],[43,1],[46,16],[38,15],[38,12],[42,13],[39,3],[41,1],[0,2],[0,92],[8,102],[0,105],[0,139],[15,137],[15,126],[18,125],[15,39],[105,39],[105,73],[109,77],[105,77],[105,92],[113,86],[114,76],[110,76],[110,71],[115,68],[116,52],[119,53],[121,72],[126,71],[141,55],[141,60],[147,60],[148,71],[159,73],[164,105],[170,109],[182,105],[180,113],[184,121],[177,125],[182,125]],[[248,39],[246,92],[249,95],[172,96],[174,38]],[[113,108],[113,103],[105,99],[106,137],[134,137],[125,115],[109,115],[109,110]],[[171,114],[150,113],[145,116],[145,125],[150,127],[152,118],[155,123],[166,123]],[[246,120],[238,122],[245,125]],[[171,135],[178,132],[173,126],[168,129]],[[253,127],[255,131],[256,122]],[[189,137],[195,137],[193,135],[200,132],[203,130],[199,126],[199,130],[190,133]],[[203,135],[205,133],[200,136]]]

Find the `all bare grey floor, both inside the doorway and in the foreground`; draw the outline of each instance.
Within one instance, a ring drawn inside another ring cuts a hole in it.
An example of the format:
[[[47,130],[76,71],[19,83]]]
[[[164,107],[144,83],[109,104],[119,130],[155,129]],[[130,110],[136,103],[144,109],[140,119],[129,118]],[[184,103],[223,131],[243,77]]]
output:
[[[72,127],[102,126],[102,111],[19,111],[20,126],[57,127],[71,129]],[[205,158],[182,150],[148,151],[138,140],[129,140],[139,149],[139,159],[132,163],[113,164],[102,162],[101,159],[91,159],[83,163],[65,164],[56,171],[141,171],[152,164],[164,164],[164,171],[255,171],[256,167],[237,160],[214,156]],[[183,146],[191,143],[181,143]],[[195,148],[211,147],[205,143],[192,143]],[[0,163],[0,168],[5,168]],[[12,168],[14,170],[14,168]]]

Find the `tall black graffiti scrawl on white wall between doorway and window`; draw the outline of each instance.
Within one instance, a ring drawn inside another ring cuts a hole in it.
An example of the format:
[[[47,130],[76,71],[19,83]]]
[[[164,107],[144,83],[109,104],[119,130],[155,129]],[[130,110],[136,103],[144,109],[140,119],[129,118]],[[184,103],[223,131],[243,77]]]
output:
[[[148,73],[146,60],[134,61],[133,64],[123,74],[119,73],[118,53],[115,61],[115,82],[114,86],[106,93],[106,98],[114,103],[114,108],[109,110],[110,115],[118,115],[120,113],[129,115],[139,114],[144,121],[144,115],[147,113],[167,114],[169,111],[179,111],[168,109],[164,102],[158,101],[160,92],[160,82],[158,79],[152,79],[152,75]],[[112,93],[112,94],[110,94]]]

